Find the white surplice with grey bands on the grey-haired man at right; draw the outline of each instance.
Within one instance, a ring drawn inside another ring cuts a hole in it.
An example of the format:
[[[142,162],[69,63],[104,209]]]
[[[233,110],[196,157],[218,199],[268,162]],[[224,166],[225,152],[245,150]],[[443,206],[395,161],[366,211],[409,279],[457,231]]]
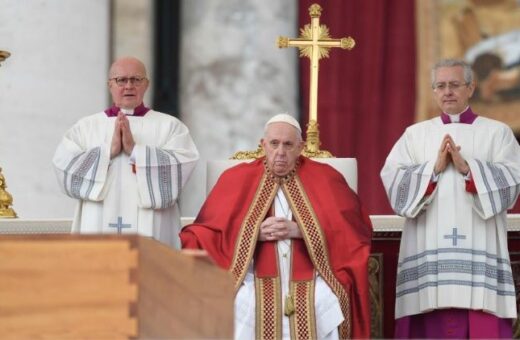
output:
[[[461,146],[477,194],[450,163],[425,196],[444,135]],[[394,211],[406,217],[396,283],[396,318],[439,308],[484,310],[516,318],[507,249],[507,209],[519,193],[520,147],[511,129],[477,117],[409,127],[381,171]]]

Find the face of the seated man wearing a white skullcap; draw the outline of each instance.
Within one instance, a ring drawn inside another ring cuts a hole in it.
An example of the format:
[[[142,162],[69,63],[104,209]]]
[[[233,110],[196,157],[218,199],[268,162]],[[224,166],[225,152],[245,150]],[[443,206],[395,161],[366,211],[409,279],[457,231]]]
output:
[[[266,154],[267,167],[276,176],[285,176],[291,172],[303,150],[299,131],[282,122],[269,124],[260,143]]]

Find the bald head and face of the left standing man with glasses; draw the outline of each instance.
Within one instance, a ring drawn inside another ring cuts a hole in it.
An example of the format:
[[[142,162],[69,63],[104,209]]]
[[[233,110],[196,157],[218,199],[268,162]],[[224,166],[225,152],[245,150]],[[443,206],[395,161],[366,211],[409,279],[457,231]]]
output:
[[[117,61],[110,70],[108,87],[117,107],[136,108],[143,102],[144,93],[148,89],[148,79],[143,64],[131,58]]]

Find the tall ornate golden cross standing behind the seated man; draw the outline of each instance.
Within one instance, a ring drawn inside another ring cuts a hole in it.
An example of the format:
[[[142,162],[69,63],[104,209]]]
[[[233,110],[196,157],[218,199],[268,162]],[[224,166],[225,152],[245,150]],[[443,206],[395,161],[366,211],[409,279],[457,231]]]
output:
[[[309,124],[307,125],[307,140],[303,154],[308,157],[332,157],[331,153],[320,150],[320,134],[318,130],[318,72],[319,60],[329,57],[329,49],[341,47],[351,50],[356,42],[351,37],[332,39],[329,36],[329,29],[325,25],[320,25],[322,8],[318,4],[309,7],[311,17],[310,25],[307,24],[300,29],[300,37],[289,39],[278,37],[278,47],[298,47],[300,57],[310,59],[311,81],[309,91]]]

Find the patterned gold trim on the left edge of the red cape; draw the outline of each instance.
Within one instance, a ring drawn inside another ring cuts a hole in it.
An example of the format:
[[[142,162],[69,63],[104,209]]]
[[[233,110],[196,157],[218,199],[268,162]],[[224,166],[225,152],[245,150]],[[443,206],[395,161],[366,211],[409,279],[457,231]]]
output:
[[[244,222],[240,226],[233,261],[229,269],[235,278],[235,292],[238,291],[246,276],[247,268],[255,252],[260,224],[271,207],[277,191],[278,184],[264,174]]]

